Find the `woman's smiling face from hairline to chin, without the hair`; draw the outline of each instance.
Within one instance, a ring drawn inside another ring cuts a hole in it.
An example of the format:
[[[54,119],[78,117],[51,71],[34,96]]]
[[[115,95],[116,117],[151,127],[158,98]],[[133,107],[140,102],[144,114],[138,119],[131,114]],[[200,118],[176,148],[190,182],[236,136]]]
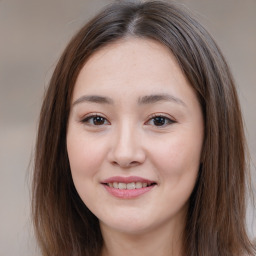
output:
[[[77,192],[101,227],[135,234],[184,222],[203,126],[169,49],[130,38],[94,53],[75,84],[67,151]]]

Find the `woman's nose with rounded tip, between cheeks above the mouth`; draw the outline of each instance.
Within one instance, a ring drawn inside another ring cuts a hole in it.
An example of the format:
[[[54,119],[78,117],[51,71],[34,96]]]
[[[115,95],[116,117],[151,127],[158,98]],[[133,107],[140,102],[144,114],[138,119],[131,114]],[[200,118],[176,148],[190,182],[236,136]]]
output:
[[[123,124],[112,135],[112,147],[108,154],[111,164],[130,168],[142,164],[146,159],[142,138],[131,125]]]

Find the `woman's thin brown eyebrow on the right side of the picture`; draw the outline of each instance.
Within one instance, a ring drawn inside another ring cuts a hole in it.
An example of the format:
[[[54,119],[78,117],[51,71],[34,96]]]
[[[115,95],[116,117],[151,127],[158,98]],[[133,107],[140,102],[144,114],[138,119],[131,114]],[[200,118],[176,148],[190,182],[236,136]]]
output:
[[[171,102],[183,105],[184,107],[187,106],[185,104],[185,102],[182,101],[181,99],[179,99],[179,98],[177,98],[177,97],[175,97],[173,95],[166,94],[166,93],[143,96],[143,97],[138,99],[139,105],[142,105],[142,104],[153,104],[153,103],[158,103],[158,102],[161,102],[161,101],[171,101]]]

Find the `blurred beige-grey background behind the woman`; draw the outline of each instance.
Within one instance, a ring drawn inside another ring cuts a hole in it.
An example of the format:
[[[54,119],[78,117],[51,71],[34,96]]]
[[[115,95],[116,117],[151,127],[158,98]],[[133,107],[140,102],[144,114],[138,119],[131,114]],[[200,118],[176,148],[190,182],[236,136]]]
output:
[[[71,36],[110,2],[0,0],[0,256],[38,255],[29,190],[42,98]],[[256,1],[178,2],[194,12],[210,31],[231,67],[244,113],[255,181]],[[247,222],[250,235],[256,236],[255,209],[251,205]]]

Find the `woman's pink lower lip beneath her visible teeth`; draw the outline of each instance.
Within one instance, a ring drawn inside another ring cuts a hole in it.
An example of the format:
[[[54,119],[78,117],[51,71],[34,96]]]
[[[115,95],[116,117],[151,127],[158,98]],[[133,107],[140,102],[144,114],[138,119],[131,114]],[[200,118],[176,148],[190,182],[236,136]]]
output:
[[[149,192],[153,186],[145,187],[145,188],[137,188],[137,189],[118,189],[118,188],[111,188],[105,184],[103,184],[105,189],[112,195],[122,199],[131,199],[139,197],[147,192]]]

